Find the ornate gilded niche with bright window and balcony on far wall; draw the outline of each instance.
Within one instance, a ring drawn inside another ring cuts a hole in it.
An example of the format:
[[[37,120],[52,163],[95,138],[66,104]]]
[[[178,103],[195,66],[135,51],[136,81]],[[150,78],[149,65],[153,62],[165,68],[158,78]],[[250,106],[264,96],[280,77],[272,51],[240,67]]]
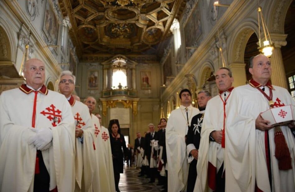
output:
[[[138,63],[124,55],[115,55],[101,63],[103,65],[102,114],[107,115],[108,108],[122,103],[137,114],[137,90],[135,84],[135,67]]]

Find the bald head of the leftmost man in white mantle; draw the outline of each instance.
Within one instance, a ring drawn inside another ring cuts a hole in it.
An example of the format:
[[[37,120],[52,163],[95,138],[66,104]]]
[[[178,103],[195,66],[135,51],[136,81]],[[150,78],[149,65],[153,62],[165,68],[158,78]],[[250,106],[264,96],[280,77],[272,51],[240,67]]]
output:
[[[39,89],[45,82],[45,64],[40,59],[29,59],[24,66],[26,84]]]

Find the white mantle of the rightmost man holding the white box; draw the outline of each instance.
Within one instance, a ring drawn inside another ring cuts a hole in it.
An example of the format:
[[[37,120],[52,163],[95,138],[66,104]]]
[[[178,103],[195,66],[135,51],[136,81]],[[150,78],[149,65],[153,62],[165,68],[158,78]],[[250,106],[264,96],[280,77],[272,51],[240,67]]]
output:
[[[295,105],[289,92],[273,86],[273,101],[278,105]],[[269,95],[269,88],[265,86]],[[269,109],[268,100],[250,85],[237,87],[229,101],[231,111],[227,115],[226,129],[226,191],[252,192],[255,182],[264,192],[271,192],[265,157],[265,132],[255,129],[257,116]],[[294,113],[295,111],[293,111]],[[269,146],[272,172],[272,192],[295,191],[295,139],[288,126],[281,126],[292,158],[292,169],[280,171],[274,156],[274,129],[269,130]],[[284,183],[284,185],[282,185]]]

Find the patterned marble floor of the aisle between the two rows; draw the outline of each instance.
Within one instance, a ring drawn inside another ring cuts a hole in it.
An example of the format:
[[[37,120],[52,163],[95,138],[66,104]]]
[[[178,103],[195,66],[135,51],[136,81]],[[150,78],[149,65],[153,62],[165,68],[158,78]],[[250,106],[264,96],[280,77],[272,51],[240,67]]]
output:
[[[124,173],[120,175],[119,190],[121,192],[159,192],[162,190],[162,185],[157,186],[155,183],[148,183],[149,179],[138,177],[139,169],[134,166],[124,166]]]

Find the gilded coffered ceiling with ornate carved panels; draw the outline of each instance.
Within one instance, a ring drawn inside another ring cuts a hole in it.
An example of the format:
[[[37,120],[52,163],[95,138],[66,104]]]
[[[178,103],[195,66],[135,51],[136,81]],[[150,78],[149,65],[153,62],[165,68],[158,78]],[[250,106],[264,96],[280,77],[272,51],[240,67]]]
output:
[[[79,57],[155,55],[185,0],[59,0]]]

